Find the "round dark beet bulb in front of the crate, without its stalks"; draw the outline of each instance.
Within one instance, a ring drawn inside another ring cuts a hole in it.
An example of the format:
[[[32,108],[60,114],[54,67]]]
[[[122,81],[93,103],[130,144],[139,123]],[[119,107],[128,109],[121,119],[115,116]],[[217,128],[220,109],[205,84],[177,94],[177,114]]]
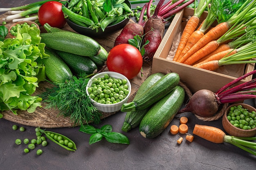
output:
[[[191,112],[200,117],[211,117],[219,108],[215,93],[209,90],[199,90],[189,100],[189,103],[179,113]]]

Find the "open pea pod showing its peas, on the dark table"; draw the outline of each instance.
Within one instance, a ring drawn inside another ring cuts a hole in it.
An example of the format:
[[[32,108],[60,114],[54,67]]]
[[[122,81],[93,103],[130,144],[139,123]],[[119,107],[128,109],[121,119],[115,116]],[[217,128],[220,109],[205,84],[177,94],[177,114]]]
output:
[[[74,143],[74,141],[72,141],[71,139],[69,139],[66,136],[61,135],[56,132],[46,131],[46,130],[42,130],[42,129],[40,129],[40,132],[44,133],[48,139],[50,139],[54,143],[58,144],[59,146],[65,148],[67,150],[70,150],[70,151],[76,150],[76,144]],[[54,136],[56,137],[56,139]]]

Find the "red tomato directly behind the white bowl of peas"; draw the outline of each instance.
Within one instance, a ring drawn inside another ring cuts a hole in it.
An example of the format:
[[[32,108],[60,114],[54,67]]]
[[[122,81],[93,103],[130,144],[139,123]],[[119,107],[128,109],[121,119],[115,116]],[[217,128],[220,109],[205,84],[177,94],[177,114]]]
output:
[[[130,44],[119,44],[108,53],[107,66],[109,71],[115,71],[132,79],[138,75],[143,64],[139,50]]]

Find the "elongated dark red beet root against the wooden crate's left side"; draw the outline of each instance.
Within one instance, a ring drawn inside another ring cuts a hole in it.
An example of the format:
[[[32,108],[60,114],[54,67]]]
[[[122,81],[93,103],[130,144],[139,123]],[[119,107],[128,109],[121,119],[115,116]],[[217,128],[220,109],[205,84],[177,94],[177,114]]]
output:
[[[149,61],[153,58],[164,35],[164,23],[162,18],[155,15],[151,16],[144,26],[144,33],[146,35],[144,36],[143,44],[145,44],[147,40],[149,40],[149,43],[144,46],[145,53],[142,57],[145,61]]]

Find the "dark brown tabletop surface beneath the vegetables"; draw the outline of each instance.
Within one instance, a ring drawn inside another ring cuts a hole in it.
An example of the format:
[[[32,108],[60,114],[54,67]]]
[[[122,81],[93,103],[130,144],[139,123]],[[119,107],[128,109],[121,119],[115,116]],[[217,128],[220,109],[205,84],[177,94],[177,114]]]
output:
[[[0,0],[0,8],[15,7],[35,1],[37,0]],[[246,100],[245,103],[255,106],[254,100]],[[111,144],[104,139],[89,145],[90,135],[79,132],[79,127],[49,128],[47,130],[70,137],[76,143],[76,152],[67,151],[48,140],[48,146],[36,146],[35,150],[27,154],[23,152],[26,145],[17,146],[15,140],[34,139],[35,128],[24,126],[25,132],[14,131],[12,125],[16,123],[0,119],[0,169],[238,170],[256,167],[256,156],[231,144],[213,144],[195,136],[192,143],[184,140],[179,145],[176,142],[179,136],[171,135],[169,132],[171,124],[179,124],[178,118],[184,115],[189,118],[188,126],[191,134],[195,124],[216,126],[223,130],[220,119],[202,121],[192,113],[183,113],[176,116],[161,135],[154,139],[146,139],[140,135],[138,128],[127,133],[121,130],[125,114],[116,113],[103,119],[102,123],[95,127],[112,125],[113,131],[123,133],[130,139],[130,145]],[[40,156],[36,155],[36,150],[39,148],[43,150]]]

